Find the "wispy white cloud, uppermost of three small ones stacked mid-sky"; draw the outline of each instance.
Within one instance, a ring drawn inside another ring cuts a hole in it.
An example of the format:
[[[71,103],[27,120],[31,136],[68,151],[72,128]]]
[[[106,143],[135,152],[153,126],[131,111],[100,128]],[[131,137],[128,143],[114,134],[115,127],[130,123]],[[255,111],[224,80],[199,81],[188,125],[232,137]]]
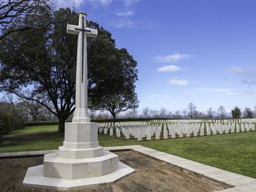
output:
[[[157,63],[176,63],[181,60],[194,58],[195,55],[187,55],[187,54],[181,54],[181,53],[173,53],[167,56],[159,56],[154,57],[154,60],[157,61]]]

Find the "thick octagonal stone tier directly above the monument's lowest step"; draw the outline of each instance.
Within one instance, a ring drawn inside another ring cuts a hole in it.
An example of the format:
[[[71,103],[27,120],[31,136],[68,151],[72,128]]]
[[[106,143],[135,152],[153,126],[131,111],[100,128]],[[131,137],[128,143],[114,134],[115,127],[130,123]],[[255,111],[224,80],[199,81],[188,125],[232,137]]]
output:
[[[74,180],[86,177],[99,177],[118,169],[118,155],[108,150],[95,158],[60,158],[59,153],[46,154],[44,177]]]

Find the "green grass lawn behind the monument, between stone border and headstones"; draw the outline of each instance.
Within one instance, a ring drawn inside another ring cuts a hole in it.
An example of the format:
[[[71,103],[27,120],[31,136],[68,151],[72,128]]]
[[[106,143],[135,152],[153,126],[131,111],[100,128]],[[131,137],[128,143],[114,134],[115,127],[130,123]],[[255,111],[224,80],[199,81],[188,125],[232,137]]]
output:
[[[58,149],[62,145],[64,136],[59,135],[57,130],[57,126],[34,126],[13,131],[2,137],[3,145],[0,147],[0,153]],[[256,178],[256,131],[142,142],[99,134],[99,145],[103,147],[143,145]]]

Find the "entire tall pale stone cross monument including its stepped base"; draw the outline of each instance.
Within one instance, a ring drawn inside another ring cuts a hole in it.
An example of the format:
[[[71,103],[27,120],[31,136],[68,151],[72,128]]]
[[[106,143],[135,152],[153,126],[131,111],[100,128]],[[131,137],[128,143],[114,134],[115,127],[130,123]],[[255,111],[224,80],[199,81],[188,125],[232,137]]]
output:
[[[87,108],[87,37],[97,30],[86,28],[86,13],[79,12],[78,26],[67,24],[67,33],[78,35],[75,113],[65,123],[63,146],[45,154],[44,164],[29,167],[23,185],[69,190],[113,183],[135,172],[118,161],[118,155],[103,150],[98,142],[97,123],[91,123]]]

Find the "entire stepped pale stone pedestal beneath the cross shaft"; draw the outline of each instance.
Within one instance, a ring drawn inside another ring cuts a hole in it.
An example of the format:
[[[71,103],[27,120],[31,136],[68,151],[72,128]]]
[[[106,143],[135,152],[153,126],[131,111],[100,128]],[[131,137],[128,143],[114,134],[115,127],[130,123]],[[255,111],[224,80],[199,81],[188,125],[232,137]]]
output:
[[[23,185],[69,190],[113,183],[132,172],[118,161],[118,155],[99,146],[97,123],[73,122],[65,124],[59,153],[46,154],[42,166],[30,167]]]

